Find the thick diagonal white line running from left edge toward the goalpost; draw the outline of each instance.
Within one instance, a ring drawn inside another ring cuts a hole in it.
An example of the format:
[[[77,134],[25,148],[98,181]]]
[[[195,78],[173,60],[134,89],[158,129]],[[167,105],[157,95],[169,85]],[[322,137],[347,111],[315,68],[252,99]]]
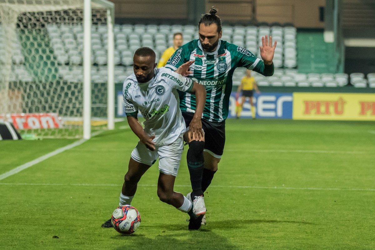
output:
[[[96,136],[96,135],[99,135],[100,133],[102,133],[103,131],[97,131],[97,132],[94,132],[92,133],[92,137]],[[87,140],[86,139],[81,139],[79,141],[76,141],[76,142],[73,142],[72,144],[69,144],[69,145],[66,145],[65,147],[62,147],[62,148],[58,148],[57,150],[55,151],[52,151],[48,154],[45,154],[43,156],[40,156],[38,158],[36,158],[35,160],[32,160],[31,162],[27,162],[21,166],[18,166],[17,168],[13,168],[12,170],[8,171],[8,172],[5,172],[4,174],[1,174],[0,175],[0,180],[4,180],[5,178],[11,176],[11,175],[14,175],[14,174],[17,174],[27,168],[30,168],[31,166],[39,163],[39,162],[42,162],[43,160],[46,160],[52,156],[55,156],[57,154],[60,154],[66,150],[69,150],[71,148],[74,148],[74,147],[77,147],[81,144],[83,144],[84,142],[86,142]]]

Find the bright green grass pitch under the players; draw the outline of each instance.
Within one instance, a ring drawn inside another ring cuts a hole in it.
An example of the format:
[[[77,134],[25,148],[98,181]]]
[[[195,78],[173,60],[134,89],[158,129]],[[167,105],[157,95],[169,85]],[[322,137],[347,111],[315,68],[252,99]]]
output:
[[[138,141],[126,126],[0,180],[0,249],[375,249],[374,122],[227,120],[207,225],[188,231],[159,201],[155,164],[132,202],[141,226],[124,236],[101,224]],[[1,141],[0,175],[74,141]]]

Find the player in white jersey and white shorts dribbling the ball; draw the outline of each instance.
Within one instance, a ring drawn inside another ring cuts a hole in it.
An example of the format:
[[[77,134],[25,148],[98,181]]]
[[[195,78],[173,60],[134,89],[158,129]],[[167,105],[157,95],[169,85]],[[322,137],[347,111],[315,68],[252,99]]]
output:
[[[198,141],[203,136],[201,116],[206,91],[202,85],[183,76],[188,75],[189,65],[193,62],[181,65],[176,72],[182,75],[164,67],[156,69],[155,52],[147,47],[135,51],[133,62],[134,74],[124,81],[123,98],[127,121],[139,142],[131,153],[129,169],[120,193],[120,206],[130,205],[138,181],[159,158],[157,196],[160,201],[189,214],[188,228],[198,229],[200,220],[193,213],[192,203],[173,190],[183,151],[183,134],[186,131],[178,106],[177,90],[196,96],[196,116],[190,123],[190,132],[192,138]],[[138,121],[138,111],[145,119],[144,128]],[[102,225],[105,228],[111,226],[111,220]]]

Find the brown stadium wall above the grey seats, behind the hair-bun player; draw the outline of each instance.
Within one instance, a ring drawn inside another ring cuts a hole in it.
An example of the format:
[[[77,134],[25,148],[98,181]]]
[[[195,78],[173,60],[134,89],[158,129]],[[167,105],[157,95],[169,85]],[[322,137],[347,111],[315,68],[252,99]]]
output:
[[[117,19],[133,19],[133,22],[160,23],[175,19],[179,23],[191,22],[191,12],[208,12],[216,7],[222,21],[228,23],[280,22],[291,23],[297,28],[324,28],[321,11],[326,0],[205,0],[205,10],[197,10],[194,0],[110,0],[115,3]]]

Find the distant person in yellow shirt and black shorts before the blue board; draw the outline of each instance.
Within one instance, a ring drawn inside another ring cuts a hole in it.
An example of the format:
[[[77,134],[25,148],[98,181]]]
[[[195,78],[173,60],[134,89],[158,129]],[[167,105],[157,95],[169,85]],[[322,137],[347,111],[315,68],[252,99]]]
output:
[[[246,102],[246,97],[249,97],[250,99],[250,105],[251,105],[251,116],[253,119],[255,119],[255,107],[253,103],[253,89],[257,91],[257,93],[260,93],[258,90],[257,83],[255,82],[254,77],[251,76],[251,70],[246,70],[246,76],[242,78],[241,84],[238,86],[237,94],[236,94],[236,115],[237,119],[240,118],[240,114],[242,111],[243,104]],[[240,96],[240,91],[242,90],[242,97],[241,97],[241,103],[238,103],[238,99]]]

